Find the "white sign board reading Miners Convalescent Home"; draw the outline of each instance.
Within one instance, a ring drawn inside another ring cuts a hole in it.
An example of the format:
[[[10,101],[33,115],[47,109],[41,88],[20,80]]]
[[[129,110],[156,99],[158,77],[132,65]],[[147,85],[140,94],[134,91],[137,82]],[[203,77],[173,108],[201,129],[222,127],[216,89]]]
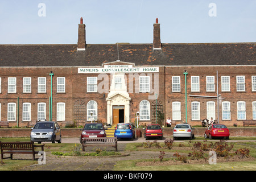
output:
[[[158,73],[158,67],[104,67],[104,68],[78,68],[78,73]],[[118,65],[119,66],[119,65]]]

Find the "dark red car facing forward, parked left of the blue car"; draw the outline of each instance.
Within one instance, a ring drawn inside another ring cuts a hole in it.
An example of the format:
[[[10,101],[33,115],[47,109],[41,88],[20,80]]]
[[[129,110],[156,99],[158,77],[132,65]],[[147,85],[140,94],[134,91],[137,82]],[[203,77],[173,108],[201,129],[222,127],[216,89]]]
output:
[[[80,143],[83,142],[83,138],[96,138],[106,137],[105,128],[102,123],[85,123],[84,128],[80,136]]]

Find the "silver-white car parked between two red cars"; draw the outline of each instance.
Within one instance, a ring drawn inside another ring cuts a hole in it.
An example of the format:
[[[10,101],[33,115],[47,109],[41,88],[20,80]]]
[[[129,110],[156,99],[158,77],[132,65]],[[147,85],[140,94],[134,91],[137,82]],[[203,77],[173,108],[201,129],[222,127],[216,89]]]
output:
[[[177,124],[174,127],[173,137],[174,137],[174,140],[180,137],[189,138],[189,139],[195,138],[194,128],[192,128],[187,123]]]

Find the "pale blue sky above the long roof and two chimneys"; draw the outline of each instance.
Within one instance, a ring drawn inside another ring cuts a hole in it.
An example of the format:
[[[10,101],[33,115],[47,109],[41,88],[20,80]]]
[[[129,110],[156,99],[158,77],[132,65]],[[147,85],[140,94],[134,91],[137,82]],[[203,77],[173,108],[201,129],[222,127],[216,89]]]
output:
[[[152,43],[156,18],[162,43],[256,42],[255,10],[256,0],[0,0],[0,44],[76,44],[80,17],[88,44]]]

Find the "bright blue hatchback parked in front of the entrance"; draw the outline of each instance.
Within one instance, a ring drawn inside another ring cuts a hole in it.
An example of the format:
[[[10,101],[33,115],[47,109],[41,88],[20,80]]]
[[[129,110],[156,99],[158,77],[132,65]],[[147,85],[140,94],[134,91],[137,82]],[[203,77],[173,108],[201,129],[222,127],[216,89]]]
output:
[[[115,127],[114,136],[119,138],[135,138],[135,126],[132,123],[118,123]]]

